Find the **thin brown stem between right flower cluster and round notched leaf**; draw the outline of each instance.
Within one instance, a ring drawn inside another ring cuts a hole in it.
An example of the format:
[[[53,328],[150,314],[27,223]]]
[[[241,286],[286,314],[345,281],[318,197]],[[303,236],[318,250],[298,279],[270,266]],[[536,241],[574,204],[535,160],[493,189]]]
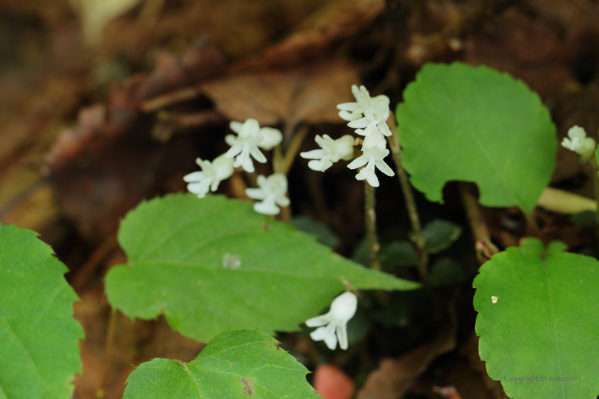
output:
[[[414,192],[412,191],[408,174],[404,169],[404,164],[401,162],[401,146],[399,145],[399,137],[397,136],[397,130],[395,126],[395,120],[393,115],[387,120],[387,124],[391,129],[391,135],[387,138],[389,141],[389,147],[393,155],[395,167],[397,169],[397,176],[399,177],[399,185],[401,185],[401,191],[404,192],[404,198],[406,199],[406,209],[408,209],[408,216],[410,218],[410,224],[413,234],[414,244],[418,249],[420,263],[418,264],[418,273],[421,279],[426,279],[428,275],[427,266],[429,264],[429,253],[426,252],[426,245],[424,237],[422,236],[422,228],[420,225],[420,218],[418,216],[418,209],[416,208],[416,199],[414,199]]]

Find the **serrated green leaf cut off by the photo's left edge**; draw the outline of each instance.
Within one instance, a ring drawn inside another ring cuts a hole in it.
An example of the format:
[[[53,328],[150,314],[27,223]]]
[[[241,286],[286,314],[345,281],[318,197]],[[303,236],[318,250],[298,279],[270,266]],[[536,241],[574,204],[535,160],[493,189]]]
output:
[[[0,398],[71,398],[83,328],[66,271],[35,232],[0,225]]]

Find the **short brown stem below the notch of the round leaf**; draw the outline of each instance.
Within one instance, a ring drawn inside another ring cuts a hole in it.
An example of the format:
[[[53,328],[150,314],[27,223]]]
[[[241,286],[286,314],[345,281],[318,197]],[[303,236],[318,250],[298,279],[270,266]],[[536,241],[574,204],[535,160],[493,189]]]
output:
[[[494,254],[499,252],[499,249],[491,241],[491,234],[488,232],[487,225],[483,219],[481,209],[478,207],[478,201],[474,197],[467,183],[459,183],[460,197],[464,210],[466,211],[466,217],[470,223],[472,229],[472,235],[474,237],[474,248],[476,249],[476,259],[479,264],[483,264]]]

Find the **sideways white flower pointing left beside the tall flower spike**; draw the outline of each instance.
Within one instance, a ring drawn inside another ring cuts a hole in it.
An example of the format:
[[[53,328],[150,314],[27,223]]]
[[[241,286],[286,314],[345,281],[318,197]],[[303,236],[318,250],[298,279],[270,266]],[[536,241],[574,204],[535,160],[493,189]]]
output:
[[[324,172],[332,167],[338,160],[351,160],[354,155],[354,138],[350,135],[344,135],[342,138],[333,140],[329,135],[319,135],[314,139],[321,150],[312,150],[299,154],[302,158],[312,160],[308,162],[308,167],[318,172]]]

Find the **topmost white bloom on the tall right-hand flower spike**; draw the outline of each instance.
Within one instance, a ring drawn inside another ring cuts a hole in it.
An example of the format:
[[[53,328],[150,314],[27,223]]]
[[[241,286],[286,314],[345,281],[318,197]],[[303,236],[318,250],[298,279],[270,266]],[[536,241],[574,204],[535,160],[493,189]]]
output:
[[[391,130],[386,125],[391,111],[389,111],[389,97],[377,95],[370,97],[364,86],[352,86],[352,93],[357,103],[343,103],[337,105],[339,116],[349,121],[350,128],[356,129],[356,133],[363,136],[372,135],[379,131],[383,135],[390,136]]]

